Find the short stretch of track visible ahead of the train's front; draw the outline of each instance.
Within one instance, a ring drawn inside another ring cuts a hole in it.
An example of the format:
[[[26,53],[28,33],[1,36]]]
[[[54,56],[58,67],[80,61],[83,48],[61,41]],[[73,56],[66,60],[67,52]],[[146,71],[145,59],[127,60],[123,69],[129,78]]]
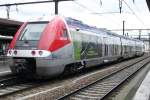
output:
[[[0,78],[0,97],[23,91],[35,86],[35,83],[20,79],[14,75]]]

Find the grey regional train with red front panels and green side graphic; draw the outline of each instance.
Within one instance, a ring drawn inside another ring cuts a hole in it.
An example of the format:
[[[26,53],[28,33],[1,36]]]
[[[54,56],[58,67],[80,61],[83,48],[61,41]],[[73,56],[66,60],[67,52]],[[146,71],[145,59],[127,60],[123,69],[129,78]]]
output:
[[[140,40],[70,18],[25,22],[7,56],[12,73],[51,77],[144,53]]]

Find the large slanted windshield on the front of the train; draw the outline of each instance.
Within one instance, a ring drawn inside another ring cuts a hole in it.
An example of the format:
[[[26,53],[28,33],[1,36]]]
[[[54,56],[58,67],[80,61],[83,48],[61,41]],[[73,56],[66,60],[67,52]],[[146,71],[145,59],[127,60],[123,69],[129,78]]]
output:
[[[24,30],[21,32],[19,40],[39,40],[41,33],[46,27],[46,24],[47,22],[28,23]]]

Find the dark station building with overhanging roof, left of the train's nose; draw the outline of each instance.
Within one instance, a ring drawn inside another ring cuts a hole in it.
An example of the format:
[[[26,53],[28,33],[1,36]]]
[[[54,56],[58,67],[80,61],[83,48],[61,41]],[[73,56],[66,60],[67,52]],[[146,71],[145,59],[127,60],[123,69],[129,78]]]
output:
[[[0,55],[5,55],[10,41],[22,22],[0,18]]]

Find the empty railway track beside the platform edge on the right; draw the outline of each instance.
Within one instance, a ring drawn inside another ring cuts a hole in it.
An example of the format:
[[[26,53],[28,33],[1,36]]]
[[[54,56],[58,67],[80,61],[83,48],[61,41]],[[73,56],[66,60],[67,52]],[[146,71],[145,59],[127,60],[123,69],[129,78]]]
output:
[[[149,61],[150,58],[148,57],[147,59],[141,60],[140,62],[121,69],[103,79],[67,94],[59,98],[59,100],[101,100],[126,79],[135,74],[142,67],[146,66]]]

